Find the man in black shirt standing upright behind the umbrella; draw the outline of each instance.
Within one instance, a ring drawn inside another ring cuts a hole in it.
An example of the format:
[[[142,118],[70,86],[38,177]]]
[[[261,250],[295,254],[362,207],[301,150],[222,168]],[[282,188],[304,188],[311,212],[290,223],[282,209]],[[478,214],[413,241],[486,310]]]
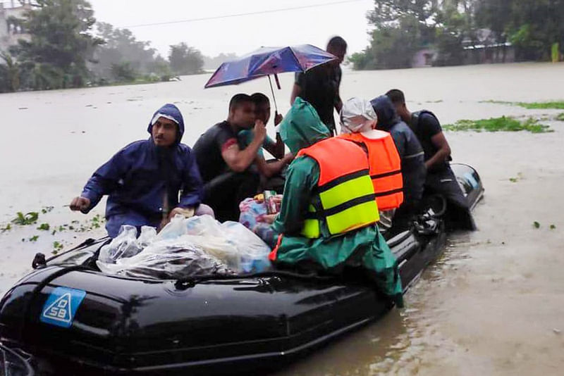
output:
[[[347,42],[341,37],[333,37],[327,44],[327,52],[337,56],[337,60],[317,65],[306,73],[296,73],[290,104],[294,103],[296,96],[300,96],[315,108],[331,134],[336,134],[333,108],[340,113],[343,107],[339,95],[342,76],[340,65],[347,53]]]

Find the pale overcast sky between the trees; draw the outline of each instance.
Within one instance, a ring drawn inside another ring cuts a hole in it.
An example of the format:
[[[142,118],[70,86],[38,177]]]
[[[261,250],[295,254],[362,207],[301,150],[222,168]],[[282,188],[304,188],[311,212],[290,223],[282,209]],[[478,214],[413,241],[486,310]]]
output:
[[[341,4],[276,13],[132,27],[336,2],[338,0],[90,0],[97,20],[116,27],[128,27],[137,39],[150,41],[165,57],[168,46],[179,42],[200,49],[204,55],[216,56],[221,52],[245,54],[260,46],[309,43],[324,48],[333,35],[345,38],[350,54],[362,51],[368,44],[366,14],[372,8],[373,0],[341,1]]]

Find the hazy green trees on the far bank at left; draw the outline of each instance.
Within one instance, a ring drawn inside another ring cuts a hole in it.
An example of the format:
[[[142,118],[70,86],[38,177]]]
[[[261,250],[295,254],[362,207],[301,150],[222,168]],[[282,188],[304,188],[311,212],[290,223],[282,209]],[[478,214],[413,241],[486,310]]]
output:
[[[0,92],[168,81],[202,73],[204,57],[180,43],[163,58],[128,29],[97,23],[85,0],[37,0],[8,20],[30,37],[0,51]]]

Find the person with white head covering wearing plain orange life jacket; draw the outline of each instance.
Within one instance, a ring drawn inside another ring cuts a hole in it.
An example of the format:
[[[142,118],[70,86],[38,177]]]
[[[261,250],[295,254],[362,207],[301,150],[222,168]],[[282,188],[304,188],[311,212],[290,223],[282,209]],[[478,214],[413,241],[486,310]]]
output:
[[[403,202],[401,161],[391,134],[376,130],[378,116],[366,99],[351,98],[340,113],[341,135],[360,144],[368,153],[370,177],[380,213],[379,229],[391,228],[393,214]]]

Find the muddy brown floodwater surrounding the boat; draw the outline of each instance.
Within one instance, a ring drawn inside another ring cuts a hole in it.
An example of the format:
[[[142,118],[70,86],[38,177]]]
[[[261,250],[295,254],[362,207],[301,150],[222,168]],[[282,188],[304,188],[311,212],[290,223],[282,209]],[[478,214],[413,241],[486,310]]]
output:
[[[269,90],[266,79],[204,90],[207,78],[0,94],[0,227],[18,211],[39,211],[38,224],[50,225],[49,232],[31,225],[0,233],[1,292],[26,272],[35,252],[103,233],[65,230],[92,225],[103,203],[90,215],[63,206],[113,153],[148,137],[147,123],[161,104],[180,108],[183,142],[192,145],[226,118],[231,95]],[[276,92],[282,113],[292,78],[282,75]],[[279,375],[562,375],[564,123],[554,117],[564,111],[487,101],[563,100],[564,63],[345,71],[341,94],[370,99],[393,87],[405,91],[409,108],[434,111],[442,123],[532,116],[554,132],[447,132],[454,161],[477,168],[486,187],[474,211],[479,230],[450,236],[443,256],[407,293],[405,309]],[[40,213],[46,206],[53,210]]]

